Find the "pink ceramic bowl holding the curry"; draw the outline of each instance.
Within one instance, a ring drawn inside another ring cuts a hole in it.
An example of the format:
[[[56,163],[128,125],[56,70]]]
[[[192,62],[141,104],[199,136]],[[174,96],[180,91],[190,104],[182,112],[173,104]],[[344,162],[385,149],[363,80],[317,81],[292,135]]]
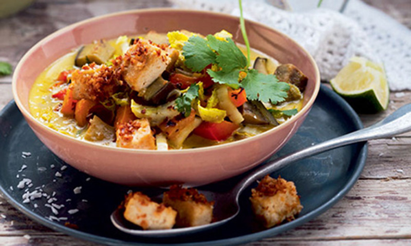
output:
[[[199,186],[243,173],[278,151],[307,116],[320,88],[315,61],[291,38],[267,26],[246,22],[253,48],[291,63],[309,78],[304,107],[284,124],[263,134],[225,145],[198,149],[148,151],[100,146],[54,131],[29,112],[29,91],[35,78],[55,59],[81,44],[100,38],[186,29],[202,34],[221,29],[244,43],[237,17],[213,12],[153,9],[99,16],[65,27],[45,37],[18,63],[13,75],[13,95],[36,136],[57,156],[89,175],[132,186]]]

